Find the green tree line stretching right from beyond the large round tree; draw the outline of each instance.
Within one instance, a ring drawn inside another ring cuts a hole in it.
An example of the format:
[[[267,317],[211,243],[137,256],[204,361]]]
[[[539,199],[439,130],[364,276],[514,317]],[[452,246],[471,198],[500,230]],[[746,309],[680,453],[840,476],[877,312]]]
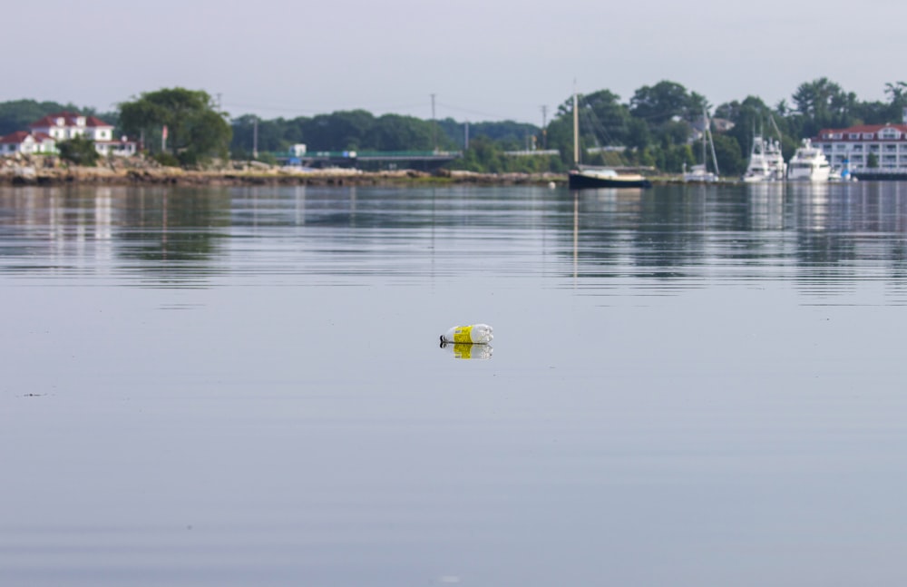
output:
[[[902,122],[907,107],[907,83],[885,85],[887,100],[862,102],[854,93],[827,78],[802,83],[791,96],[768,105],[756,96],[713,107],[702,94],[680,83],[661,81],[639,88],[629,101],[600,90],[581,96],[580,144],[589,164],[650,166],[679,172],[701,162],[700,145],[692,141],[702,129],[703,113],[731,124],[726,132],[712,128],[718,167],[726,175],[746,169],[756,134],[780,139],[786,158],[801,139],[823,128],[854,124]],[[568,97],[545,129],[522,122],[457,122],[451,118],[427,121],[412,116],[374,116],[364,110],[315,117],[262,120],[246,114],[233,120],[230,151],[251,156],[258,124],[258,152],[282,152],[294,143],[309,151],[444,151],[461,150],[453,167],[472,171],[565,171],[573,158],[573,101]],[[592,147],[621,149],[590,150]],[[531,148],[556,150],[550,157],[506,154]]]

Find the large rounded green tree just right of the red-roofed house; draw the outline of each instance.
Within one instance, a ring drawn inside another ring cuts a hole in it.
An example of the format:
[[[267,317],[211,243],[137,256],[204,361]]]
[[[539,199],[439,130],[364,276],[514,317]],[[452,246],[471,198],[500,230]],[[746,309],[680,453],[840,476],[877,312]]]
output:
[[[226,157],[232,134],[227,114],[215,109],[207,92],[180,87],[141,93],[136,100],[121,103],[120,123],[125,132],[141,134],[152,147],[166,127],[167,147],[184,162]]]

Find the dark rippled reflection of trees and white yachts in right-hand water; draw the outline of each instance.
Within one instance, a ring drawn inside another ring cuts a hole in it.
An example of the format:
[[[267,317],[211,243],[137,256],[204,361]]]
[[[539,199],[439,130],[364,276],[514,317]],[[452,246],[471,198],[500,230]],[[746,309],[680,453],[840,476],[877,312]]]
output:
[[[903,279],[907,187],[899,183],[665,186],[579,192],[580,276],[862,279],[866,263]],[[566,227],[564,227],[566,230]],[[571,227],[572,230],[572,227]]]

